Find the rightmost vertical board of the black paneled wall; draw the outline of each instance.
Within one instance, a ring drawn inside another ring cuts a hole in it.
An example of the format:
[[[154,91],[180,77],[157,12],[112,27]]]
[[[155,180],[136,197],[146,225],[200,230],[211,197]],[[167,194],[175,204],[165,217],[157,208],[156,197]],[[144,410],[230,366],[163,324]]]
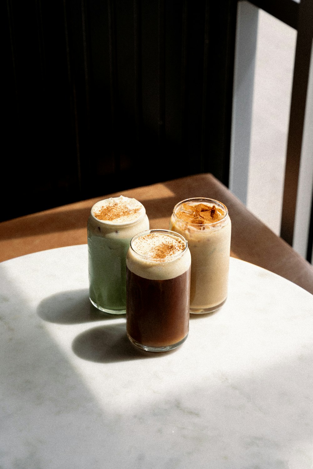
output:
[[[228,186],[237,2],[209,0],[204,17],[200,170],[212,172]]]

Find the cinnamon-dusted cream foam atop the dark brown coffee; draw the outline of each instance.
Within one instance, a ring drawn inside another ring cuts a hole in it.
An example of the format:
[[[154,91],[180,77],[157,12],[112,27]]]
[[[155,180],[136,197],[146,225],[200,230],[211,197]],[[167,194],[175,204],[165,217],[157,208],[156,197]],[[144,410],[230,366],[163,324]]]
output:
[[[191,255],[183,237],[151,230],[132,239],[126,265],[145,279],[168,280],[189,269]]]

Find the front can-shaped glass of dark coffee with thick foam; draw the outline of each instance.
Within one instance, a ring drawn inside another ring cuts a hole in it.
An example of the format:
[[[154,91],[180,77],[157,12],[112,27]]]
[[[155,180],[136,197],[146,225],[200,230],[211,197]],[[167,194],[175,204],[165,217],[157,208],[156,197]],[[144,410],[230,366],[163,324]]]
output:
[[[126,329],[151,352],[181,345],[189,332],[191,255],[183,236],[148,230],[133,237],[126,257]]]

